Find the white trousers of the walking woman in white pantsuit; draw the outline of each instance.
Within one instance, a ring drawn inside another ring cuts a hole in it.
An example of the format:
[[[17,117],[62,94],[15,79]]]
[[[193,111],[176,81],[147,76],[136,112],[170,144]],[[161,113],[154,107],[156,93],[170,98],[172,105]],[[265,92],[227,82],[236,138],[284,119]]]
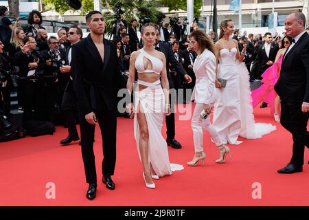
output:
[[[218,135],[218,132],[210,123],[210,115],[206,119],[201,118],[201,112],[203,111],[203,103],[196,103],[194,113],[192,115],[192,130],[195,152],[202,152],[203,148],[203,129],[208,131],[211,139],[216,146],[222,145],[222,141]]]

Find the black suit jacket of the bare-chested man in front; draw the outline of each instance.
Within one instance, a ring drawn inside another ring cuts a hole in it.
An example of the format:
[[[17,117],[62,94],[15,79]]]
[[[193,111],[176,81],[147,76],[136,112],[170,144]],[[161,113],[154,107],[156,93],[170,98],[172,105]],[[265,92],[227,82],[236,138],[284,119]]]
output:
[[[93,110],[117,110],[117,89],[122,86],[122,77],[115,44],[104,39],[102,62],[91,34],[86,39],[74,43],[71,74],[74,91],[78,97],[78,109],[82,115],[87,115]]]

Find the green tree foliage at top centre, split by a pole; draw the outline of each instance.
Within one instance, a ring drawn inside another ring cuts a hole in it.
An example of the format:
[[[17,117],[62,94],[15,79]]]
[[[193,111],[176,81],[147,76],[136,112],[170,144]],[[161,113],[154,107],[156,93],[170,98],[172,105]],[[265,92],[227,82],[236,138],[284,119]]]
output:
[[[172,10],[187,10],[187,0],[161,0],[161,4],[168,7],[168,11]],[[201,15],[201,7],[203,0],[194,0],[194,17]]]

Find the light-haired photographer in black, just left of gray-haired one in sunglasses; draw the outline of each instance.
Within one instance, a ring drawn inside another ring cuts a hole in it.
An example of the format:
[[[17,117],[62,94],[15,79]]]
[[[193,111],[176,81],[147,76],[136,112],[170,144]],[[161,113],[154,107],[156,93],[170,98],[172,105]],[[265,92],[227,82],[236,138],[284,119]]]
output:
[[[25,36],[23,39],[25,44],[23,50],[16,52],[15,60],[16,65],[19,66],[18,81],[20,87],[21,100],[23,100],[23,120],[33,120],[38,118],[38,115],[44,113],[41,101],[36,98],[40,94],[38,84],[43,76],[43,71],[46,68],[44,58],[36,49],[36,40],[33,36]],[[34,115],[32,113],[34,109]]]

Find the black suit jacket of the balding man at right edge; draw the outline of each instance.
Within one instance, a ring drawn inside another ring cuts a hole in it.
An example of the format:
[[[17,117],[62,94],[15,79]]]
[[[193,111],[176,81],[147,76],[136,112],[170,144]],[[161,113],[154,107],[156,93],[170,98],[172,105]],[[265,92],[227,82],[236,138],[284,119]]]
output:
[[[282,102],[309,102],[309,35],[306,32],[285,54],[275,91]]]

